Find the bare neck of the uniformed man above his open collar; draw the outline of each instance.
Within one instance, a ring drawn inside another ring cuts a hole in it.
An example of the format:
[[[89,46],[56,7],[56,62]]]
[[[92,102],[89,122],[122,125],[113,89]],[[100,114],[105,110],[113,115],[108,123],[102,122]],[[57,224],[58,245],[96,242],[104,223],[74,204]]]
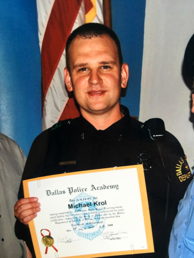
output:
[[[106,128],[120,120],[122,117],[124,117],[123,113],[120,110],[120,107],[114,111],[111,110],[102,114],[88,113],[85,110],[80,111],[81,115],[97,130],[105,130]]]

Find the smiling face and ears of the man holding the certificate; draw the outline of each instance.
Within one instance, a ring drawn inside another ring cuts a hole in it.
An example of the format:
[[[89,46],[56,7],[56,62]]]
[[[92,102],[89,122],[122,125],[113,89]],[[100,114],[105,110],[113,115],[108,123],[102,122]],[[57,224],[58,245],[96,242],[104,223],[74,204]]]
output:
[[[128,66],[120,67],[115,42],[107,35],[76,37],[69,57],[70,73],[65,68],[65,83],[69,91],[73,90],[82,115],[118,108],[121,87],[127,86]]]

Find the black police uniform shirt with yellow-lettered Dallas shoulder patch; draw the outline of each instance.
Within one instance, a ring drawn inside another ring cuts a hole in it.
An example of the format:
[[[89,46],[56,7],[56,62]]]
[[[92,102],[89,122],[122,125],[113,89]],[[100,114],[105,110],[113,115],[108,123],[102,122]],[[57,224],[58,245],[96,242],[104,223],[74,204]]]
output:
[[[143,164],[155,253],[133,256],[164,258],[177,206],[192,174],[183,149],[172,134],[165,131],[162,141],[154,141],[143,123],[130,118],[126,107],[121,106],[121,111],[125,116],[106,130],[96,130],[79,117],[60,121],[42,132],[32,144],[22,180]],[[76,162],[66,164],[68,161]],[[23,198],[22,184],[18,197]],[[24,235],[20,224],[16,223],[18,238]],[[24,240],[28,243],[27,238]]]

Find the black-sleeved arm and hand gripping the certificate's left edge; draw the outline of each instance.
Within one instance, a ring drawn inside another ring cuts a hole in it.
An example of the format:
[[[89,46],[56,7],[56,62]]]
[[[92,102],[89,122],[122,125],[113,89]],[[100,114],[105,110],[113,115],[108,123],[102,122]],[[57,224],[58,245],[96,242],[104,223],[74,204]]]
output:
[[[24,198],[23,180],[41,176],[41,166],[43,166],[48,151],[49,130],[42,132],[34,140],[29,151],[28,158],[24,167],[21,184],[18,193],[18,201],[14,206],[15,216],[15,234],[18,239],[23,239],[32,254],[35,257],[32,239],[29,228],[27,227],[30,220],[34,219],[40,210],[38,198]],[[34,199],[35,198],[35,199]],[[38,204],[38,205],[37,205]]]

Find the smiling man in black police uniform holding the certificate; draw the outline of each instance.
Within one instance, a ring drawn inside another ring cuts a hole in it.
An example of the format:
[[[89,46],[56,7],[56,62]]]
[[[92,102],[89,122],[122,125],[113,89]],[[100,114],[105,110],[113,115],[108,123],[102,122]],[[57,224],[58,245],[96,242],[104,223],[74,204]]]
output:
[[[74,30],[66,44],[66,66],[65,84],[74,93],[81,117],[61,121],[35,139],[23,180],[143,164],[155,253],[135,257],[164,258],[178,201],[191,181],[180,143],[165,131],[161,119],[143,124],[130,119],[128,109],[120,106],[129,71],[112,30],[98,23]],[[21,193],[22,187],[20,198]],[[16,217],[26,225],[39,211],[36,197],[22,198],[15,205]]]

